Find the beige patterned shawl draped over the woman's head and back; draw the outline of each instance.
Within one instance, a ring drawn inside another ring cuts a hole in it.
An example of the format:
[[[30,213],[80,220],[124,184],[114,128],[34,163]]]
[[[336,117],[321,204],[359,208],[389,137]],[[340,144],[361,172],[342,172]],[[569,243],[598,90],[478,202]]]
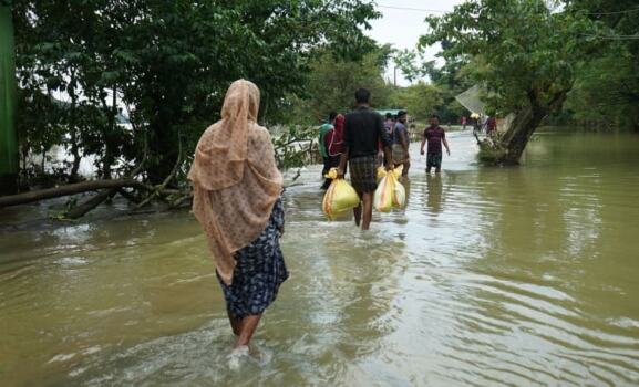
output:
[[[233,281],[234,253],[266,229],[281,194],[268,130],[256,124],[259,90],[234,82],[221,119],[202,135],[188,172],[194,186],[193,212],[202,224],[219,276]]]

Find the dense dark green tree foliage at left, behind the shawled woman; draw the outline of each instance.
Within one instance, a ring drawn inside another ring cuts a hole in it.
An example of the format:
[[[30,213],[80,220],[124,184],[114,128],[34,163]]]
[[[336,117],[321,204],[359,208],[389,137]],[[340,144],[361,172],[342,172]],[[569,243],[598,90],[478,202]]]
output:
[[[145,171],[157,184],[184,159],[177,144],[190,153],[219,118],[233,81],[260,87],[268,121],[305,91],[317,49],[349,59],[370,51],[362,30],[379,14],[361,0],[16,0],[13,15],[20,102],[34,121],[20,123],[25,146],[40,150],[30,144],[45,144],[38,136],[56,125],[70,136],[53,143],[99,156],[110,177],[121,159],[140,163],[147,144]],[[64,116],[51,121],[52,104],[34,104],[37,94],[64,100]],[[132,129],[116,125],[120,107]]]

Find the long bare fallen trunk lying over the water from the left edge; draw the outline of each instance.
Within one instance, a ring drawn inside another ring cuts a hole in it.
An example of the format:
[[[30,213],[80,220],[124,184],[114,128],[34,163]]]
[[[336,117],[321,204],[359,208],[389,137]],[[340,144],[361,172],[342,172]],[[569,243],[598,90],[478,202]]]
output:
[[[3,196],[0,197],[0,208],[25,205],[33,201],[59,198],[63,196],[76,195],[87,191],[95,191],[99,189],[124,188],[124,187],[150,190],[150,188],[146,185],[133,179],[90,180],[24,194]]]

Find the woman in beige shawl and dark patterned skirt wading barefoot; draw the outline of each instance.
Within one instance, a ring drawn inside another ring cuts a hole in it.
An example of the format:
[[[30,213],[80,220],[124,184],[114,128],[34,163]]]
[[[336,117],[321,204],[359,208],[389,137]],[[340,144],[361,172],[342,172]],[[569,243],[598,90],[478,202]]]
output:
[[[261,314],[288,278],[279,248],[282,177],[270,135],[257,125],[258,109],[257,86],[234,82],[221,119],[199,139],[188,174],[193,212],[213,252],[236,348],[248,346]]]

